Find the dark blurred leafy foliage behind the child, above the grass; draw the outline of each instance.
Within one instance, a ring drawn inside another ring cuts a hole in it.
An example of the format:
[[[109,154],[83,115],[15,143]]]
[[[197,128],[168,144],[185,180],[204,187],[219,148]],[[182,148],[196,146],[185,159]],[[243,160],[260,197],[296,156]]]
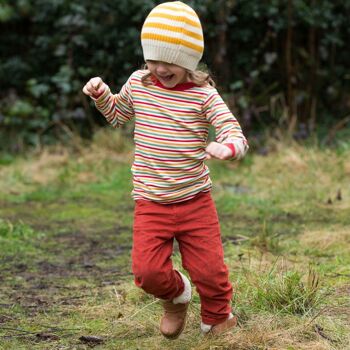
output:
[[[89,137],[104,125],[81,89],[101,76],[117,92],[142,66],[140,29],[161,2],[0,0],[0,146]],[[203,61],[246,132],[305,138],[347,117],[350,1],[185,2],[203,24]]]

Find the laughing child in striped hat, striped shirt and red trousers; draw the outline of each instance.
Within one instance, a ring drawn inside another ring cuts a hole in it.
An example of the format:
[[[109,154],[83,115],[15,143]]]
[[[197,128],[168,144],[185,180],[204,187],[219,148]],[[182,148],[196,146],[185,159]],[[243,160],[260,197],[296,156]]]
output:
[[[236,326],[237,318],[231,313],[232,287],[204,161],[239,159],[247,142],[208,74],[196,71],[204,43],[191,7],[180,1],[156,6],[142,27],[141,44],[147,69],[134,72],[119,94],[101,78],[83,89],[114,127],[135,118],[135,284],[162,300],[160,331],[177,338],[191,284],[173,269],[176,239],[183,268],[200,296],[201,329],[221,334]],[[206,145],[210,125],[216,142]]]

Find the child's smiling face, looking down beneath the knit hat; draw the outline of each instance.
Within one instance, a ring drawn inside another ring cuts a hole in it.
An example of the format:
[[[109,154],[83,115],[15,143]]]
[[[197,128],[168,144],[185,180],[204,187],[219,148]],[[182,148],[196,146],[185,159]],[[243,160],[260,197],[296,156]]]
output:
[[[173,88],[187,81],[185,68],[161,61],[147,60],[146,62],[150,72],[167,88]]]

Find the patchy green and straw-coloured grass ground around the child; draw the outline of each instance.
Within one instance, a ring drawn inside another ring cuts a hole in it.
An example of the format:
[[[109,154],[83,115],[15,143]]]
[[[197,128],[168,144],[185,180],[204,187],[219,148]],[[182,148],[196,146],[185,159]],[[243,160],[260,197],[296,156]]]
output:
[[[203,337],[194,292],[168,341],[131,274],[132,147],[76,145],[0,163],[0,349],[349,348],[350,147],[208,163],[240,325]]]

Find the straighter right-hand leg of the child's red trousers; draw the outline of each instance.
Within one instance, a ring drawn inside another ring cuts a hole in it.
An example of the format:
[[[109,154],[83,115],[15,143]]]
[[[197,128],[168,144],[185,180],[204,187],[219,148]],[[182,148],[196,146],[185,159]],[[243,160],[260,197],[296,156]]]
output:
[[[232,286],[220,236],[215,204],[204,193],[181,206],[181,230],[176,234],[183,267],[189,272],[201,300],[202,321],[216,325],[231,312]]]

